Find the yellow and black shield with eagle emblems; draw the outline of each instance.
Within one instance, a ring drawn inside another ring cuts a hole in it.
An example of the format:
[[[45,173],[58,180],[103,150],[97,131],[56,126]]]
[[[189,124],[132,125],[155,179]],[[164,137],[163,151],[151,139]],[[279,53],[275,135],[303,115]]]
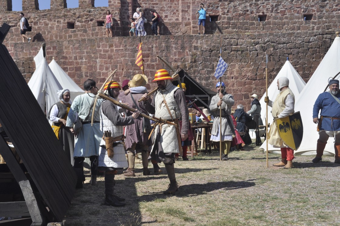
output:
[[[276,118],[275,123],[280,138],[291,149],[300,147],[303,136],[303,126],[300,112],[295,112],[284,118]]]

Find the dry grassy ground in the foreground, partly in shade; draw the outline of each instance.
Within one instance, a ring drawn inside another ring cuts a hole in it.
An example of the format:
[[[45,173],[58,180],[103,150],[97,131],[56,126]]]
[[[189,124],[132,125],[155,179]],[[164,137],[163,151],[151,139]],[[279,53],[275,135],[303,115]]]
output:
[[[296,156],[294,168],[274,167],[277,154],[249,145],[219,161],[219,151],[200,153],[191,161],[176,161],[179,191],[164,195],[169,180],[163,174],[116,176],[116,193],[126,206],[104,206],[104,178],[77,190],[65,216],[66,225],[340,225],[340,165],[333,157],[312,163],[312,156]],[[150,169],[152,165],[150,164]]]

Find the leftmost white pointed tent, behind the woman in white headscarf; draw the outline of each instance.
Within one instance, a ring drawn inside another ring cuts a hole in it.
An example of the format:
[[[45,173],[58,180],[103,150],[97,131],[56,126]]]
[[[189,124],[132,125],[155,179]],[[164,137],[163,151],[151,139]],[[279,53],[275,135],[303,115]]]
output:
[[[28,82],[28,86],[38,101],[41,110],[45,112],[46,107],[46,115],[49,115],[51,106],[60,101],[57,97],[57,91],[61,90],[62,86],[53,75],[43,52],[43,47],[41,47],[34,57],[36,69]]]

